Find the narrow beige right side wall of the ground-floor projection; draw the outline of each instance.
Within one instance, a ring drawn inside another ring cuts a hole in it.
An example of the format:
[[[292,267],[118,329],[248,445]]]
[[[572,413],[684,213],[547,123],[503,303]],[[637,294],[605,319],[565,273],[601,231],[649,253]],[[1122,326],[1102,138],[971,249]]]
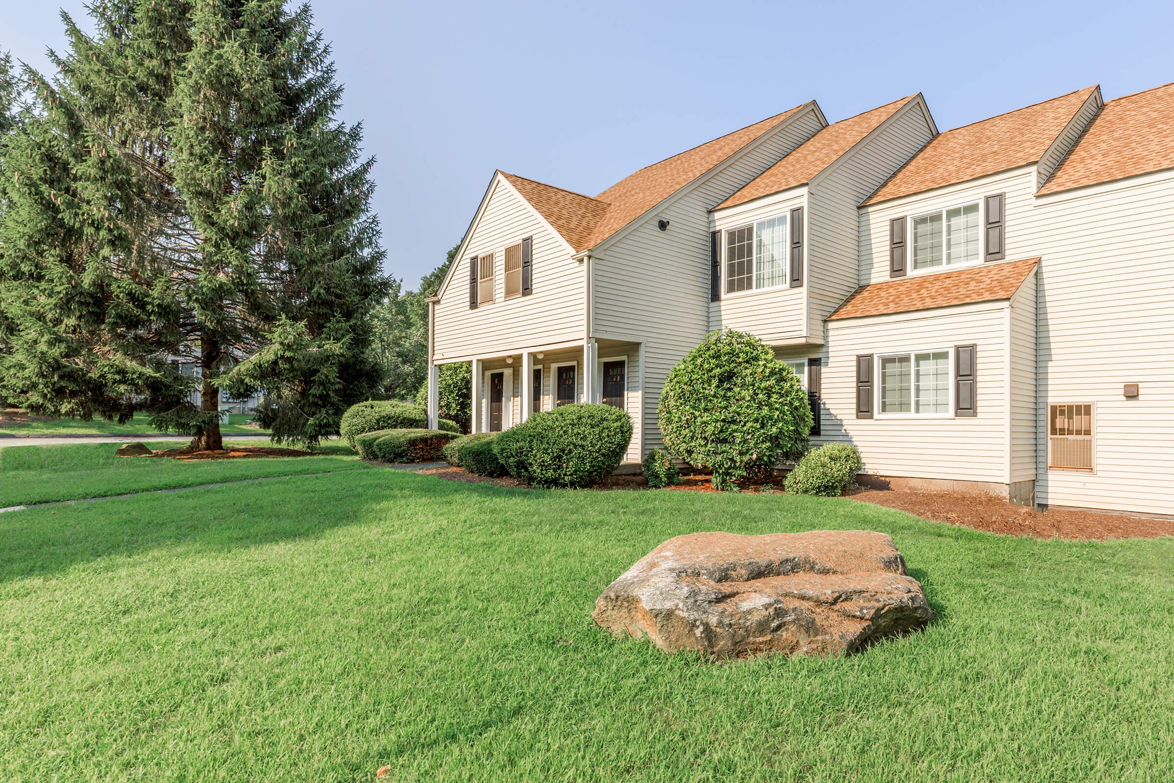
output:
[[[1011,298],[1007,325],[1011,481],[1030,481],[1035,478],[1035,275]]]

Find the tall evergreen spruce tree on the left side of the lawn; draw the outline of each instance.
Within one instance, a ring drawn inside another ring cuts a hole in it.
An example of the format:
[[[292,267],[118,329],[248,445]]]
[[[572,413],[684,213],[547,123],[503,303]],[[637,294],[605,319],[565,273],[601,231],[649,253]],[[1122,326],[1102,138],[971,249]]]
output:
[[[38,412],[151,423],[220,448],[220,394],[265,390],[313,445],[370,396],[387,290],[372,160],[309,6],[106,0],[0,184],[0,371]],[[200,369],[198,380],[178,363]],[[188,401],[198,383],[200,405]]]

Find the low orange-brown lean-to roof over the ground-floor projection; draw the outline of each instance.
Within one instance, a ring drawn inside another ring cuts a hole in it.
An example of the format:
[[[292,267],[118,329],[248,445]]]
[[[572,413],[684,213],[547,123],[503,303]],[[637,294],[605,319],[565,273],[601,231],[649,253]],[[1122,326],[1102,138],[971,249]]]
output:
[[[862,285],[828,320],[1010,299],[1037,263],[1039,258],[1025,258]]]

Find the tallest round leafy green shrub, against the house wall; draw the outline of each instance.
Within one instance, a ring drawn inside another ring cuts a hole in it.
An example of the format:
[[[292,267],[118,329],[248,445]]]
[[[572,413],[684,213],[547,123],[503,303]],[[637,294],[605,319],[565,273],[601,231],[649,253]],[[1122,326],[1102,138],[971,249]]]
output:
[[[713,332],[673,367],[657,414],[664,447],[709,470],[718,490],[802,454],[811,431],[795,372],[761,339],[736,331]]]

